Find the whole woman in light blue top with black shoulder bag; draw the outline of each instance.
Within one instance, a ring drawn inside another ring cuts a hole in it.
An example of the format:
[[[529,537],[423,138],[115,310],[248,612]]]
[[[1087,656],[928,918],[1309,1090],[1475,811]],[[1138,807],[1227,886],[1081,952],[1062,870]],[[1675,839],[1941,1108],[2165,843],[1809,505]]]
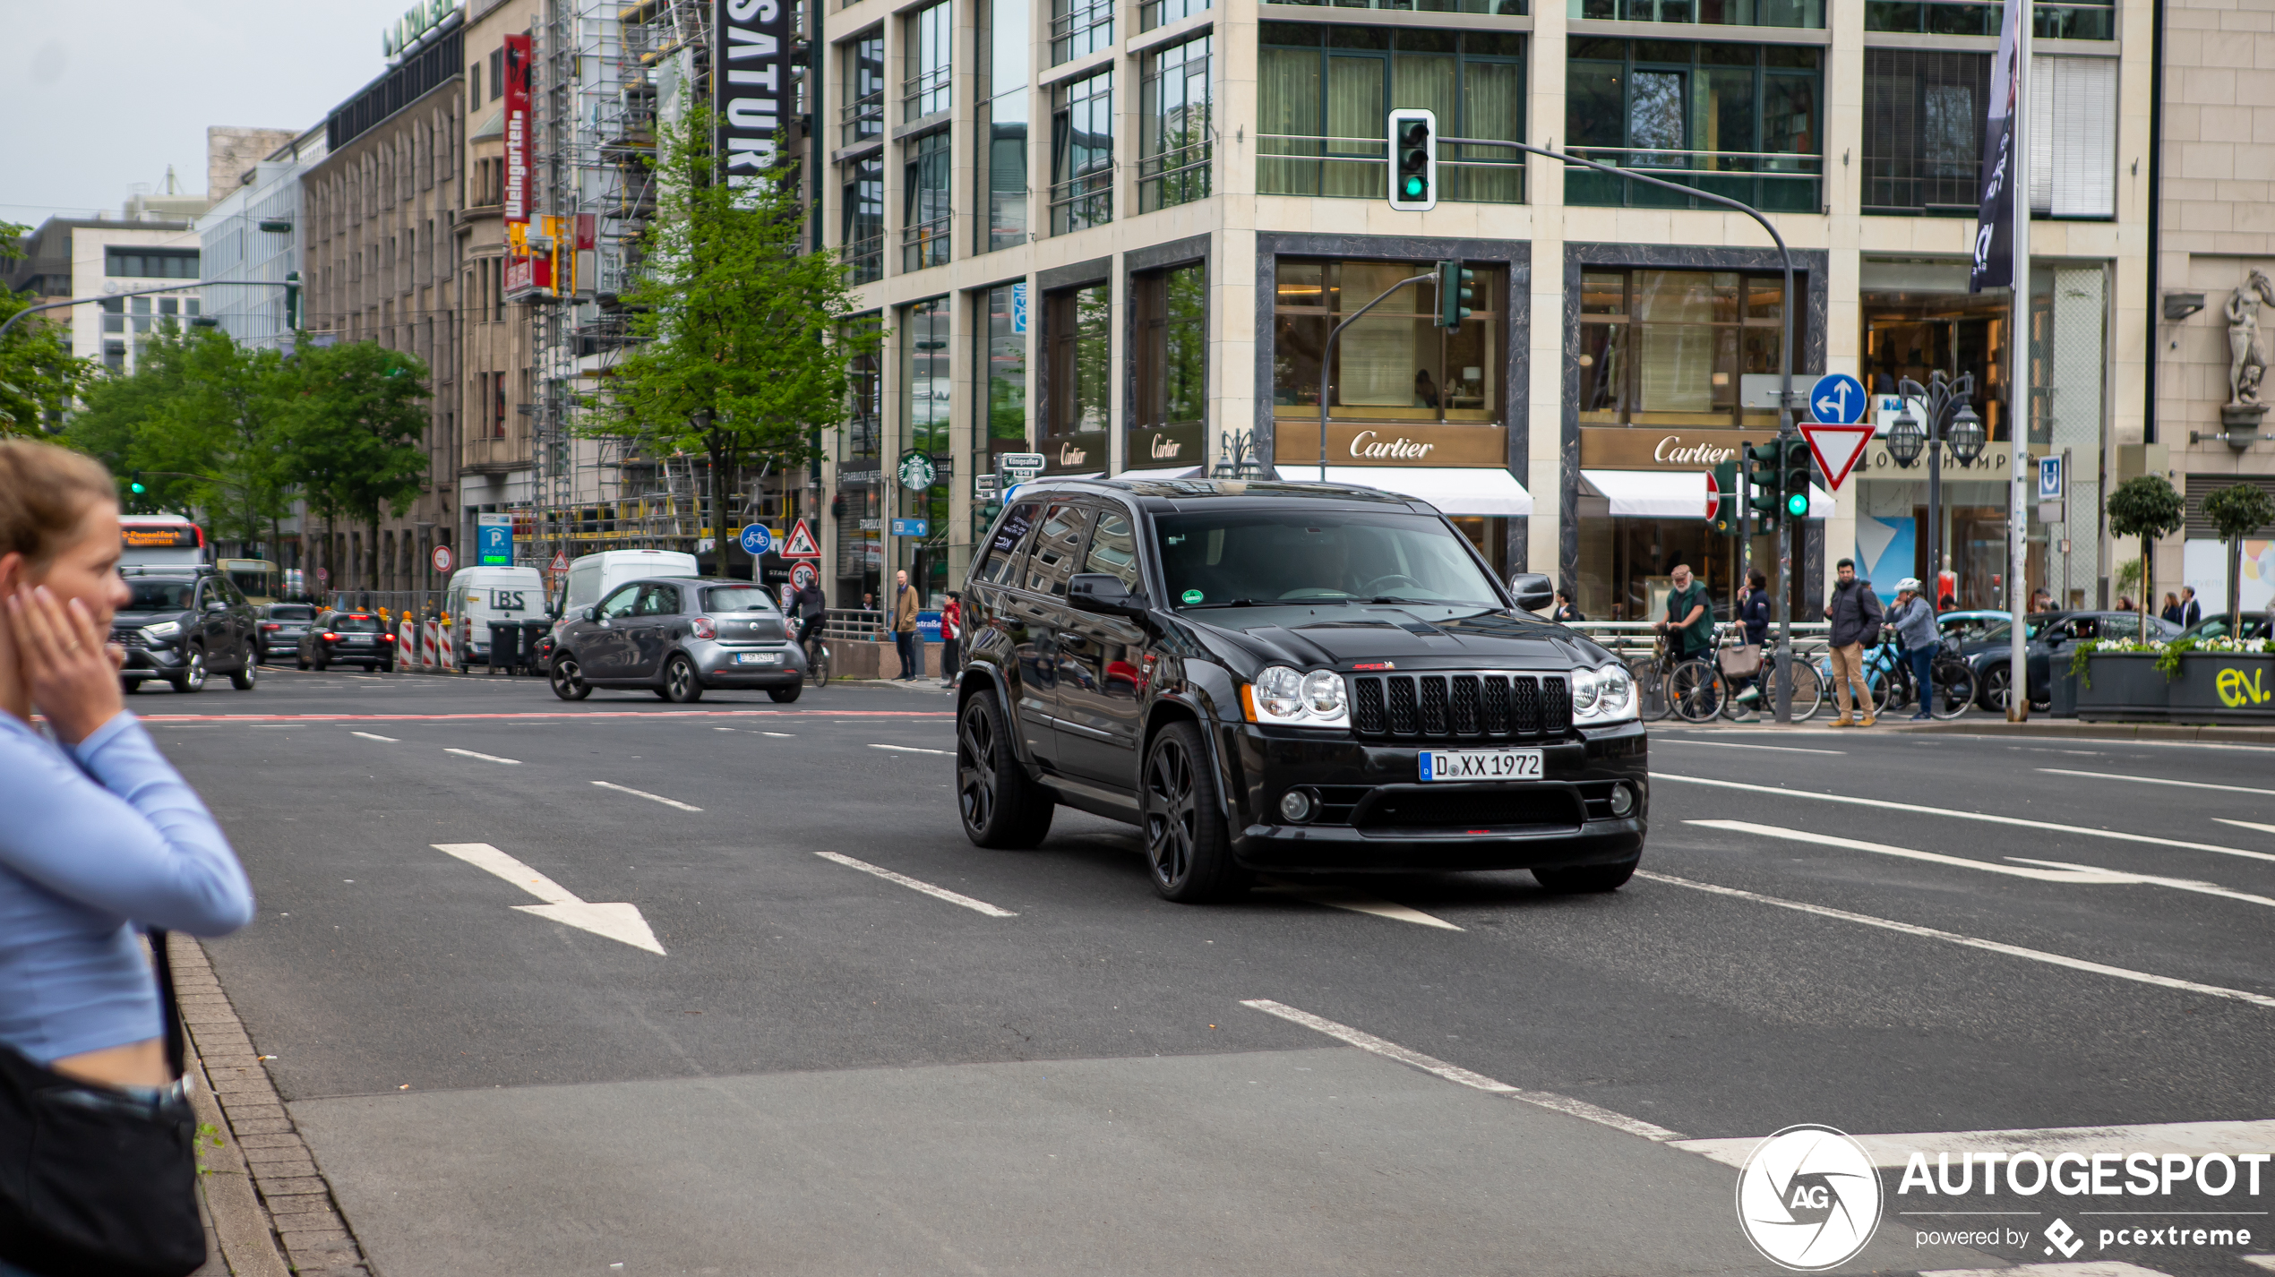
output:
[[[116,483],[0,442],[0,1272],[205,1261],[166,931],[253,920],[237,854],[125,712]],[[32,726],[32,715],[41,726]],[[34,1118],[48,1113],[50,1118]],[[57,1143],[57,1134],[61,1140]],[[41,1186],[36,1200],[14,1193]]]

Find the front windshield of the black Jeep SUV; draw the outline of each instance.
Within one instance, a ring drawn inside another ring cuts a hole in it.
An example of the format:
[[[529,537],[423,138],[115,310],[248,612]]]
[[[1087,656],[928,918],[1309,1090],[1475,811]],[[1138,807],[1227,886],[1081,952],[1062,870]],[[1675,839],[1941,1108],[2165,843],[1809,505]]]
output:
[[[1160,539],[1172,608],[1502,605],[1467,542],[1429,514],[1372,510],[1163,514],[1153,519],[1153,535]]]

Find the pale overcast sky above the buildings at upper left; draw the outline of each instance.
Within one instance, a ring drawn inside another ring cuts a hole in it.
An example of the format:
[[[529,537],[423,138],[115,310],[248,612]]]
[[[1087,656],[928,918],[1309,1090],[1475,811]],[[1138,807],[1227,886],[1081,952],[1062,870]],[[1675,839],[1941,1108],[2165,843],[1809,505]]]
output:
[[[410,0],[0,0],[0,221],[116,212],[205,127],[305,130],[384,68]]]

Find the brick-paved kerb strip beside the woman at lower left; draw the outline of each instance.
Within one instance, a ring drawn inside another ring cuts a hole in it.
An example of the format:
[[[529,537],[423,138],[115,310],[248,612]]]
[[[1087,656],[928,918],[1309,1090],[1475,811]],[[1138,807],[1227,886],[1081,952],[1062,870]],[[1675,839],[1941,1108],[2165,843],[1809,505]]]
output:
[[[237,1277],[371,1277],[332,1186],[300,1143],[237,1008],[205,949],[168,936],[173,988],[189,1029],[198,1120],[225,1138],[200,1150],[207,1213],[221,1259]],[[221,1272],[207,1261],[205,1270]],[[205,1272],[200,1270],[200,1272]]]

